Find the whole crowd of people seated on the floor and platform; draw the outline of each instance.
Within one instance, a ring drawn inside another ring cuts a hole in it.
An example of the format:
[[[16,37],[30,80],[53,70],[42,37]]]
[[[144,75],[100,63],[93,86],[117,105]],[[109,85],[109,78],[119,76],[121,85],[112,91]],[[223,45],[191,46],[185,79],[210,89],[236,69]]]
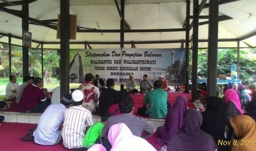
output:
[[[137,112],[149,118],[165,119],[165,124],[155,131],[148,121],[133,114],[134,102],[129,92],[138,92],[133,77],[133,74],[129,76],[127,89],[118,92],[113,79],[107,79],[105,88],[99,75],[95,82],[94,76],[88,73],[79,90],[65,94],[60,103],[53,104],[47,90],[41,89],[42,79],[35,78],[31,84],[32,79],[27,77],[18,107],[26,113],[45,109],[32,133],[35,143],[41,145],[62,142],[73,150],[156,150],[145,140],[156,133],[156,142],[165,144],[163,150],[256,150],[256,100],[249,101],[247,95],[242,95],[245,86],[238,86],[239,93],[226,89],[223,99],[217,95],[207,97],[206,111],[200,113],[189,109],[187,98],[182,95],[171,107],[164,77],[151,85],[145,74],[140,82],[145,98]],[[10,83],[15,83],[11,80]],[[94,112],[101,117],[95,124]],[[231,143],[227,145],[224,141]],[[243,145],[245,141],[248,142]]]

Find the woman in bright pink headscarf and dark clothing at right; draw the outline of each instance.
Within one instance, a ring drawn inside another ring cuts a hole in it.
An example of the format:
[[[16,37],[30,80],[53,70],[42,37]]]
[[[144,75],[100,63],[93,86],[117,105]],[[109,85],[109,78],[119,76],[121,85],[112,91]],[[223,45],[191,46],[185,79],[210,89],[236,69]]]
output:
[[[225,119],[229,121],[232,117],[236,117],[237,115],[242,115],[243,111],[241,109],[241,103],[239,101],[239,97],[237,92],[232,89],[227,89],[225,91]]]

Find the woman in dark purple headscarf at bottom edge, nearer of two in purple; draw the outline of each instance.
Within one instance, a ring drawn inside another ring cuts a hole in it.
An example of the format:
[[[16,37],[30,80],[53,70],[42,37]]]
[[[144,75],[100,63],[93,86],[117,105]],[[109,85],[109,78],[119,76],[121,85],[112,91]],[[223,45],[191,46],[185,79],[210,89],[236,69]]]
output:
[[[200,129],[202,122],[203,118],[199,111],[188,109],[184,117],[184,126],[168,142],[167,150],[216,150],[217,145],[213,137]]]

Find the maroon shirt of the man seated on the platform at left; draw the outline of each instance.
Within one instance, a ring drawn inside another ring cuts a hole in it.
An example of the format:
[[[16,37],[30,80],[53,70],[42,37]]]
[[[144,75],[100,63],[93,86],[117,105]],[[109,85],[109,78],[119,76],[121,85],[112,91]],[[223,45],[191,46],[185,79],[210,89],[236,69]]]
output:
[[[42,89],[38,88],[36,85],[27,85],[20,97],[20,102],[18,103],[18,109],[20,112],[30,111],[35,108],[40,101],[45,101],[46,96]]]

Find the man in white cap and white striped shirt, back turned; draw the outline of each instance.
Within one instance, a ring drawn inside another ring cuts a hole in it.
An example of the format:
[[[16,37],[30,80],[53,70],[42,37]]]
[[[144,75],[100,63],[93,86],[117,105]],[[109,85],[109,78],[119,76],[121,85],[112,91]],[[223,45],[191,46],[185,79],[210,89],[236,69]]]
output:
[[[73,107],[67,109],[62,128],[63,145],[68,149],[83,149],[83,139],[86,126],[91,126],[92,115],[88,109],[81,106],[84,94],[80,90],[72,93]]]

